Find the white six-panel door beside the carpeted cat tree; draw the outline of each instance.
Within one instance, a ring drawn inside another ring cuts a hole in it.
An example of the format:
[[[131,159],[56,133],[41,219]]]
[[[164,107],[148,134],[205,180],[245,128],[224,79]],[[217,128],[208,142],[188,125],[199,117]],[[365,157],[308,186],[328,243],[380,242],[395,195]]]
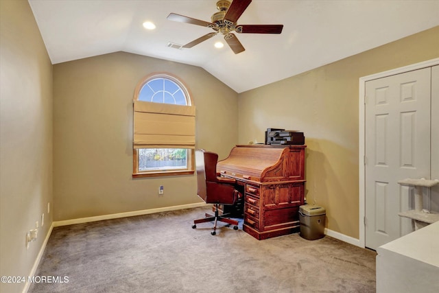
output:
[[[366,82],[366,246],[412,231],[399,211],[411,189],[397,181],[430,175],[430,75],[419,69]]]

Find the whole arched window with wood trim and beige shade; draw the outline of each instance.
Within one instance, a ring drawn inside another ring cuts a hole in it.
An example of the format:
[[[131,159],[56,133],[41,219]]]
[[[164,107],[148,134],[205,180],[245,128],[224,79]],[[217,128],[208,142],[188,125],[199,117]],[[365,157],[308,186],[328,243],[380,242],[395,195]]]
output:
[[[147,76],[134,91],[133,177],[193,174],[195,107],[172,75]]]

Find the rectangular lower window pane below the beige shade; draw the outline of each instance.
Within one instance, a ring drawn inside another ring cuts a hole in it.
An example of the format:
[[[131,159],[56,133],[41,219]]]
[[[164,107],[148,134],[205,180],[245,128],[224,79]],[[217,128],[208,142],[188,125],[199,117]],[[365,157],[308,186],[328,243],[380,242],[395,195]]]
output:
[[[188,151],[184,148],[139,149],[139,172],[187,169]]]

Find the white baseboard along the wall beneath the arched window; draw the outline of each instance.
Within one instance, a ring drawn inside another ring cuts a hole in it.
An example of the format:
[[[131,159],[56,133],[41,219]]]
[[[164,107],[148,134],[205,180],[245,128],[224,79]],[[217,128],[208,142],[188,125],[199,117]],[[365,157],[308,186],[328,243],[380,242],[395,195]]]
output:
[[[78,218],[78,219],[72,219],[72,220],[63,220],[63,221],[56,221],[54,222],[54,226],[67,226],[71,224],[81,224],[81,223],[87,223],[87,222],[95,222],[95,221],[102,221],[102,220],[111,220],[111,219],[118,219],[118,218],[125,218],[125,217],[132,217],[134,215],[148,215],[150,213],[161,213],[163,211],[176,211],[178,209],[191,209],[194,207],[204,207],[207,204],[205,202],[197,202],[194,204],[182,204],[179,206],[173,206],[173,207],[161,207],[158,209],[143,209],[141,211],[128,211],[126,213],[112,213],[109,215],[97,215],[95,217],[87,217],[87,218]]]

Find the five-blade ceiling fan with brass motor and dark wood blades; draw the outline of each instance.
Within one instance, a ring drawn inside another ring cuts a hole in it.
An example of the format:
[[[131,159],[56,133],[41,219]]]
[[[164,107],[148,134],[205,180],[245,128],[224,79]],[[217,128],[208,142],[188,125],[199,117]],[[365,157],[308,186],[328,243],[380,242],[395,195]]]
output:
[[[219,12],[212,15],[211,23],[175,13],[169,14],[167,19],[169,19],[169,21],[178,21],[180,23],[190,23],[192,25],[210,27],[215,31],[205,34],[204,36],[191,41],[191,43],[187,43],[182,46],[183,48],[191,48],[202,43],[204,40],[208,40],[218,33],[221,33],[224,35],[224,40],[226,40],[230,49],[232,49],[235,54],[238,54],[245,49],[235,34],[232,33],[233,31],[239,34],[281,34],[283,29],[283,25],[237,25],[236,22],[239,19],[239,16],[243,14],[244,10],[246,10],[251,2],[252,0],[233,0],[231,3],[228,0],[217,1],[217,10],[219,10]]]

